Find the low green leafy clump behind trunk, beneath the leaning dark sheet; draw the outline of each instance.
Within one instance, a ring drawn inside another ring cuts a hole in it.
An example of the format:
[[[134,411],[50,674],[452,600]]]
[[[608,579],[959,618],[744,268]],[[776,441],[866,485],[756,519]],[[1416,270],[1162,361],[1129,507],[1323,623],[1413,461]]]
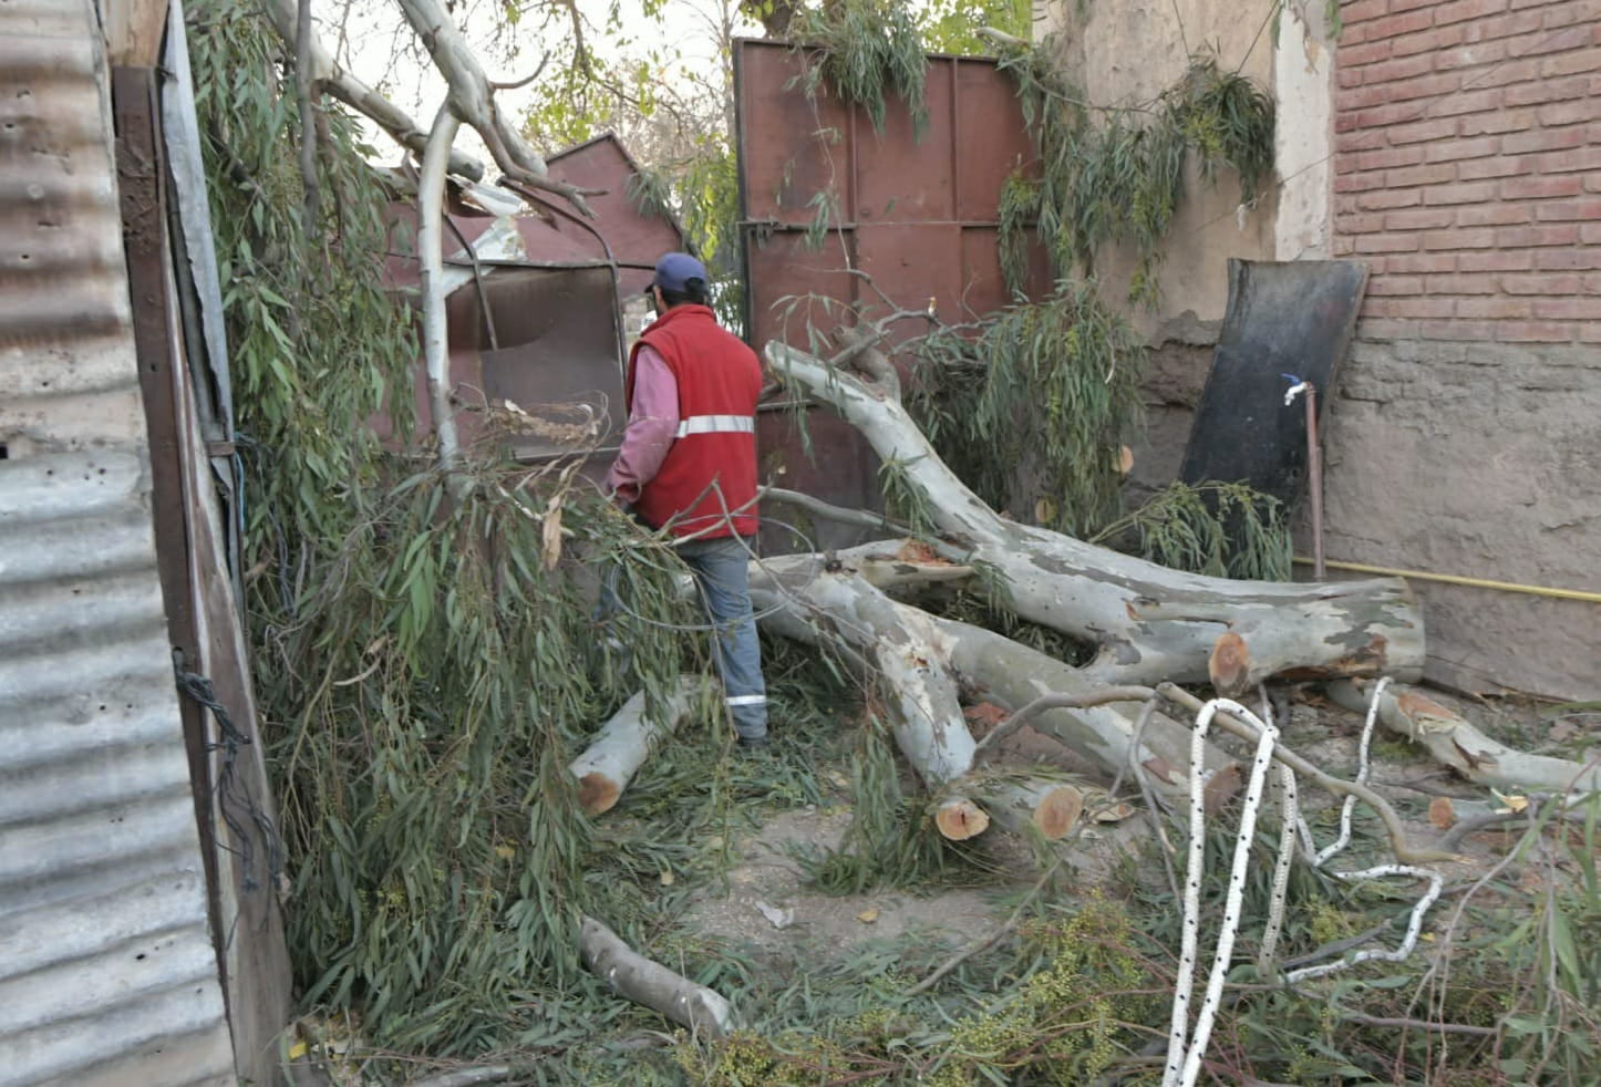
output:
[[[1175,480],[1090,543],[1174,570],[1246,581],[1289,581],[1294,557],[1282,503],[1246,483]]]

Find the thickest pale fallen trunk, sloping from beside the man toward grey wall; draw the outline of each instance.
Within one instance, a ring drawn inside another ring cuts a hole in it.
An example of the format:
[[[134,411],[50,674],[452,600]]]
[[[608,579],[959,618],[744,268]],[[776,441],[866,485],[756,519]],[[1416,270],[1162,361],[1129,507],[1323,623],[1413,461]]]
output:
[[[1230,581],[1169,570],[1044,528],[1009,522],[940,459],[893,389],[783,343],[773,373],[837,410],[922,490],[938,528],[1005,576],[1018,616],[1098,647],[1084,676],[1103,684],[1201,682],[1220,636],[1249,655],[1241,682],[1270,676],[1417,679],[1423,616],[1399,578],[1335,584]]]

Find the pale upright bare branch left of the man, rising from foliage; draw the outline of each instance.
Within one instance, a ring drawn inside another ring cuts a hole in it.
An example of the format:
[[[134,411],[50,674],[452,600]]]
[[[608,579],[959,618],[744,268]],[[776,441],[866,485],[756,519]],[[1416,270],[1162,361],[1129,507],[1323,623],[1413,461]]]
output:
[[[439,466],[456,461],[456,416],[450,410],[450,338],[445,325],[445,168],[450,144],[461,120],[450,99],[439,107],[423,152],[423,174],[416,184],[416,248],[423,290],[423,360],[427,365],[427,403],[439,437]]]

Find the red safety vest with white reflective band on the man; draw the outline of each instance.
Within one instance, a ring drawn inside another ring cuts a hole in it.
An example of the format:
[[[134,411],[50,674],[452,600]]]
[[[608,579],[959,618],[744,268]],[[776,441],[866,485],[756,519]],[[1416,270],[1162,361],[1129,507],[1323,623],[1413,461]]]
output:
[[[722,330],[706,306],[674,306],[645,328],[628,360],[631,410],[640,344],[661,355],[679,384],[679,431],[661,469],[640,488],[636,512],[674,536],[754,535],[762,394],[756,352]]]

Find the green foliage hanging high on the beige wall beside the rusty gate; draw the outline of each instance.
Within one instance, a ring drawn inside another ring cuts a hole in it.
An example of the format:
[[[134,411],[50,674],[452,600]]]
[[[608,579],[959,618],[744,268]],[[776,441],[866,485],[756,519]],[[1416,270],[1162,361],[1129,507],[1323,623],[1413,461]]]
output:
[[[1186,162],[1193,157],[1206,181],[1218,166],[1233,168],[1241,202],[1254,203],[1273,170],[1273,101],[1202,53],[1150,107],[1092,109],[1055,56],[1045,42],[1001,61],[1018,83],[1039,152],[1037,176],[1017,174],[1002,197],[1007,283],[1023,287],[1020,235],[1033,219],[1057,275],[1092,275],[1105,245],[1130,245],[1138,266],[1129,296],[1154,304],[1161,245],[1183,199]]]

